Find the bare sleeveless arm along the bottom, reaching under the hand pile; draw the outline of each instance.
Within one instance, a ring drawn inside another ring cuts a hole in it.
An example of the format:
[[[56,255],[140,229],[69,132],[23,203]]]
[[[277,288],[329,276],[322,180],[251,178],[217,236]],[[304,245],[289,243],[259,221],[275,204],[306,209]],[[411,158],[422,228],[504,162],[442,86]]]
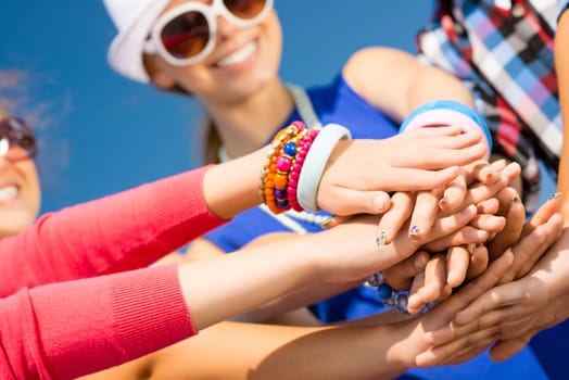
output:
[[[146,373],[152,373],[152,380],[393,379],[415,366],[414,354],[427,347],[425,332],[452,319],[457,309],[491,287],[510,261],[511,255],[505,255],[477,280],[477,287],[413,320],[306,328],[223,322],[195,339],[84,380],[141,379]],[[219,362],[219,357],[225,359]]]

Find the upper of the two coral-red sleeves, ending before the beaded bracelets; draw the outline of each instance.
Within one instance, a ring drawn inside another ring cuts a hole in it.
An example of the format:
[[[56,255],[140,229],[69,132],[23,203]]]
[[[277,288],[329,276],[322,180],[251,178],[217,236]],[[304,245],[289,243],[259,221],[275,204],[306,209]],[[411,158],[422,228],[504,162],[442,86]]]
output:
[[[219,226],[202,194],[204,170],[47,214],[0,240],[0,294],[143,267]]]

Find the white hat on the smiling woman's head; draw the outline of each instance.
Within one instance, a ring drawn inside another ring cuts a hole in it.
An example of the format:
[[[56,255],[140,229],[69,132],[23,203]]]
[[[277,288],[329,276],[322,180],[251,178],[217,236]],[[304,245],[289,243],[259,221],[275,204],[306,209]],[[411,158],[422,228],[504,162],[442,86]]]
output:
[[[130,79],[149,81],[142,64],[142,52],[152,24],[168,2],[169,0],[103,0],[118,29],[108,52],[111,67]]]

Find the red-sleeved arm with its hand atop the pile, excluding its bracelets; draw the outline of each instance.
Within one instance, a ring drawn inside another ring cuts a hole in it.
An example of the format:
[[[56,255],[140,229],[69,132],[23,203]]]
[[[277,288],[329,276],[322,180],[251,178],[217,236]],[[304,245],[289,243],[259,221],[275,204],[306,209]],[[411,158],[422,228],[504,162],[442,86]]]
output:
[[[387,149],[391,139],[340,142],[324,170],[318,204],[333,213],[379,213],[389,202],[380,190],[447,183],[456,170],[437,169],[448,161],[459,164],[482,154],[479,136],[456,137],[456,132],[446,128],[394,138],[392,144],[407,151],[420,149],[426,160],[408,160],[410,154],[402,156],[401,150]],[[222,224],[220,218],[261,202],[258,172],[267,151],[264,148],[205,173],[174,176],[43,217],[22,235],[0,241],[5,252],[0,294],[24,286],[132,269],[175,251]],[[381,176],[367,170],[370,162],[380,163]],[[378,198],[383,202],[378,204]]]

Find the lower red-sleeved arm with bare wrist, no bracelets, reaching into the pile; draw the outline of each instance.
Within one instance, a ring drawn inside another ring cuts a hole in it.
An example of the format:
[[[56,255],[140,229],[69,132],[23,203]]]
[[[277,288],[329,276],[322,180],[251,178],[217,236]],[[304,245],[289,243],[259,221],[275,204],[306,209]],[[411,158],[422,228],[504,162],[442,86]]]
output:
[[[470,210],[445,219],[433,228],[433,238],[473,216]],[[413,251],[407,239],[378,248],[375,219],[179,267],[23,289],[0,300],[5,352],[0,372],[16,378],[36,371],[61,379],[81,376],[163,349],[292,291],[365,278]]]

